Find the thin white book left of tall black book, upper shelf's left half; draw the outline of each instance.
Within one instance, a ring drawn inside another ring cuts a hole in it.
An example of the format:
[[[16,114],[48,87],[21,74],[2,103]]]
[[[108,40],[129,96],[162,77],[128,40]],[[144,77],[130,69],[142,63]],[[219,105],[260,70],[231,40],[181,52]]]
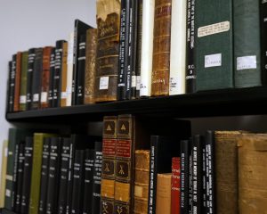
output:
[[[67,62],[67,106],[71,106],[71,88],[73,76],[73,44],[74,32],[69,34],[68,41],[68,62]]]

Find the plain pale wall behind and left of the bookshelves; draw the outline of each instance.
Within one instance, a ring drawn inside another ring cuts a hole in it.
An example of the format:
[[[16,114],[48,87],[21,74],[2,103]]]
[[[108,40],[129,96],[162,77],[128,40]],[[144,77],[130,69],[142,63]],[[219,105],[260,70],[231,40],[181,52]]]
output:
[[[3,140],[12,126],[4,118],[8,62],[12,54],[68,39],[75,19],[95,27],[95,12],[95,0],[0,1],[0,166]]]

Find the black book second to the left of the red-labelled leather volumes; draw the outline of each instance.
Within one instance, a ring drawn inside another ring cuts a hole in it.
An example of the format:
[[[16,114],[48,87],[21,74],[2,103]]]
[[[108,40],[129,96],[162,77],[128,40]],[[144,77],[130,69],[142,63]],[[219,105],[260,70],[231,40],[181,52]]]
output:
[[[92,213],[94,150],[85,150],[85,185],[83,214]]]

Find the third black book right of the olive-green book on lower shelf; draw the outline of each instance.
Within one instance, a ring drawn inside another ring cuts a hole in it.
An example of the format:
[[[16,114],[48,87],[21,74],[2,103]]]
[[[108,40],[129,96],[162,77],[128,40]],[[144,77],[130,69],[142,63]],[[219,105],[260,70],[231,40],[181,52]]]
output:
[[[60,191],[59,191],[59,208],[58,213],[66,213],[67,205],[67,191],[68,191],[68,175],[69,175],[69,150],[70,150],[70,139],[63,138],[62,150],[61,150],[61,180],[60,180]]]

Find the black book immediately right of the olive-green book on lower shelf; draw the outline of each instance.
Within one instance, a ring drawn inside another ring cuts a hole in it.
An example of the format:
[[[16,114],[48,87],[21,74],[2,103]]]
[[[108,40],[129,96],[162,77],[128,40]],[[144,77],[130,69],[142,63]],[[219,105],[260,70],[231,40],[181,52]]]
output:
[[[40,185],[40,201],[39,213],[46,213],[46,198],[47,198],[47,183],[48,183],[48,169],[49,169],[49,156],[50,152],[50,137],[44,138],[43,154],[42,154],[42,169],[41,169],[41,185]]]

